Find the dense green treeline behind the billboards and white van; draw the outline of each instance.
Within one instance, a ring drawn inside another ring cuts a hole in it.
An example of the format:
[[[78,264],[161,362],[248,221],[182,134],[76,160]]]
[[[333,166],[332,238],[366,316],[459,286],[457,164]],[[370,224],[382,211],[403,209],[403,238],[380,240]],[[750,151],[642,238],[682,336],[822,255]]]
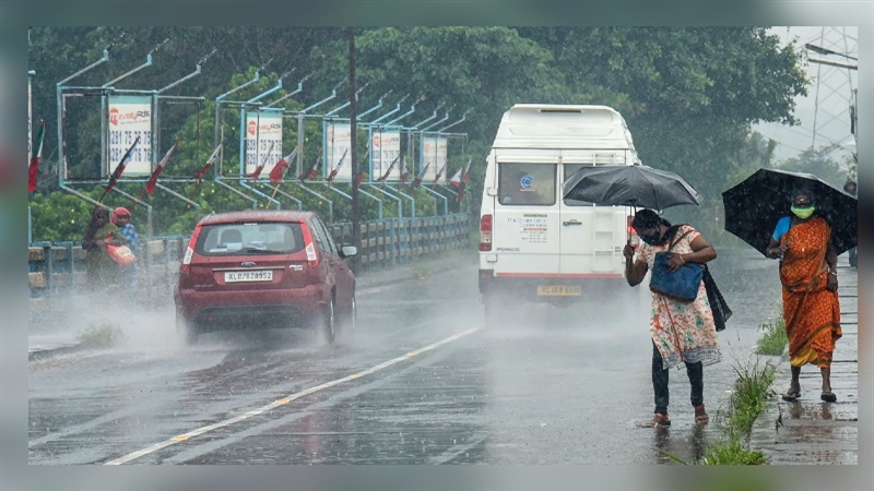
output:
[[[215,97],[251,80],[257,70],[261,79],[235,93],[235,100],[247,100],[274,86],[281,75],[286,75],[287,85],[276,98],[287,94],[294,80],[309,75],[305,91],[283,103],[286,109],[312,105],[334,88],[336,105],[347,99],[347,87],[342,85],[347,75],[347,41],[341,27],[52,26],[34,27],[29,39],[29,68],[37,72],[34,117],[47,124],[38,193],[47,202],[56,199],[49,193],[57,189],[50,179],[59,158],[56,84],[98,60],[109,46],[108,63],[70,84],[101,86],[143,64],[151,53],[153,67],[119,82],[118,88],[161,88],[190,74],[215,49],[199,76],[168,93],[204,100],[160,107],[158,153],[177,137],[181,142],[162,182],[182,195],[191,193],[193,183],[188,178],[214,147]],[[488,146],[503,112],[513,104],[597,104],[618,109],[643,161],[686,177],[701,192],[705,209],[718,203],[721,191],[752,161],[768,165],[770,154],[759,152],[761,142],[751,141],[749,127],[760,121],[793,124],[793,98],[804,94],[808,83],[796,47],[780,47],[761,27],[363,27],[357,29],[356,45],[358,86],[366,87],[359,108],[373,107],[391,91],[389,105],[408,94],[404,104],[416,107],[404,124],[430,116],[440,104],[445,106],[438,116],[450,113],[447,124],[471,109],[464,124],[452,130],[469,137],[465,155],[452,155],[449,171],[459,164],[457,157],[473,158],[473,181],[466,190],[473,213],[479,212]],[[294,74],[288,73],[292,69]],[[68,177],[99,176],[99,99],[69,98],[68,103]],[[326,105],[318,111],[330,107],[336,106]],[[286,121],[284,149],[297,141],[296,124]],[[222,175],[233,178],[239,176],[239,108],[227,106],[220,124],[225,142]],[[304,166],[308,168],[320,152],[321,125],[307,120],[304,132]],[[745,154],[749,152],[757,152],[755,158]],[[364,161],[364,155],[358,157]],[[119,184],[133,195],[140,194],[142,185]],[[291,184],[284,187],[294,190]],[[297,190],[293,194],[306,206],[326,207],[309,193]],[[421,202],[416,197],[417,214],[437,206],[433,197],[425,194]],[[251,207],[251,202],[208,182],[192,199],[204,200],[204,213]],[[118,193],[110,193],[108,200],[123,202]],[[283,206],[296,206],[293,200],[281,200]],[[153,206],[156,233],[185,230],[194,219],[190,206],[180,212],[184,201],[163,190],[146,201]],[[263,201],[258,206],[264,206]],[[373,200],[363,200],[364,216],[375,213],[368,201]],[[334,218],[342,220],[343,200],[335,203]],[[142,224],[145,218],[138,214],[145,208],[128,207]]]

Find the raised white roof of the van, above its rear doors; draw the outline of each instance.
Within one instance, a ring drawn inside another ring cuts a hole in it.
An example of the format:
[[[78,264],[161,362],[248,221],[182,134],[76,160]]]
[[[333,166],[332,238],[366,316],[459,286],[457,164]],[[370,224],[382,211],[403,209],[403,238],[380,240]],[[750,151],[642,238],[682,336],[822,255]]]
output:
[[[634,149],[625,119],[607,106],[517,104],[500,119],[496,148]]]

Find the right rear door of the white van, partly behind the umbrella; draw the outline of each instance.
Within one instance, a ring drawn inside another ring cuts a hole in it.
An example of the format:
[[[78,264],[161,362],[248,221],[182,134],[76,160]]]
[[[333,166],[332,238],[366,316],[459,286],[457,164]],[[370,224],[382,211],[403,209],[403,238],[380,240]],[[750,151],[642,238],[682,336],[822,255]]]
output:
[[[594,161],[618,164],[613,152],[599,155],[597,151],[565,151],[562,155],[560,181],[582,166]],[[622,278],[625,244],[625,206],[595,206],[575,200],[560,199],[562,260],[559,272],[564,277]]]

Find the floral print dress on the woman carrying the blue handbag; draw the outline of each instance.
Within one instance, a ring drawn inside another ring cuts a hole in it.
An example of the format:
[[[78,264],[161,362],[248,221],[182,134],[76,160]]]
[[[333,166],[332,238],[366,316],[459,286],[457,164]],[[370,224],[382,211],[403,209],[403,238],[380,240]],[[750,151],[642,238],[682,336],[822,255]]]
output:
[[[672,252],[678,254],[692,252],[692,241],[700,232],[688,225],[681,225],[672,240],[684,233],[685,237],[673,246]],[[647,266],[652,270],[656,253],[668,251],[670,244],[671,240],[662,246],[641,243],[635,261],[646,261]],[[704,282],[698,286],[698,296],[692,302],[674,300],[653,292],[649,330],[652,342],[662,355],[662,368],[665,370],[683,366],[684,362],[700,361],[708,366],[722,360],[713,312],[707,300]]]

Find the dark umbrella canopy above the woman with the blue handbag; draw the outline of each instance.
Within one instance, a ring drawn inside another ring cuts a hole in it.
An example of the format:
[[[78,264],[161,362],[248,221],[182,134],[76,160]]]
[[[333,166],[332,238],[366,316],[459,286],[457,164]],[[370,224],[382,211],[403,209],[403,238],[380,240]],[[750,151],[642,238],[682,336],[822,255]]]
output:
[[[664,209],[698,204],[698,192],[685,179],[648,166],[582,167],[563,184],[567,200],[603,206],[641,206]]]

